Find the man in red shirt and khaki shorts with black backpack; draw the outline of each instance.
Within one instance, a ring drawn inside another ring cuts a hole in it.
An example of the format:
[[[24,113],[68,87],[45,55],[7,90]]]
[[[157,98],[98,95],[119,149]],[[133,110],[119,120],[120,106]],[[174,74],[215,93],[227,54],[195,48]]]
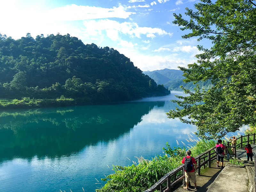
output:
[[[186,187],[183,187],[184,189],[188,190],[188,183],[189,183],[189,178],[191,177],[191,181],[195,184],[195,189],[196,187],[196,174],[195,170],[197,167],[196,160],[194,157],[191,157],[191,151],[187,150],[187,156],[183,157],[181,163],[185,164],[185,181],[186,181]],[[195,165],[195,168],[194,168]],[[191,168],[189,168],[191,166]]]

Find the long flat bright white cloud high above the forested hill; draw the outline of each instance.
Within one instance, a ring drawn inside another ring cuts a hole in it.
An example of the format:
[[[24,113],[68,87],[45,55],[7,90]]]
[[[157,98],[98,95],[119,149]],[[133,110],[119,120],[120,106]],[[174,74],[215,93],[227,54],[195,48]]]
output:
[[[113,8],[90,7],[82,5],[67,5],[65,7],[58,7],[47,12],[42,12],[41,17],[47,16],[52,20],[89,20],[100,18],[128,18],[133,12],[126,12],[126,8],[122,5]]]

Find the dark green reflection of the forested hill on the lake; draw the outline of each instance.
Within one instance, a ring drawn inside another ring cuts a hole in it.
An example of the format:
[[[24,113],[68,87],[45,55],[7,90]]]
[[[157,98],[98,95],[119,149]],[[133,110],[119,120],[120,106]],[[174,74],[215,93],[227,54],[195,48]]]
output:
[[[87,145],[129,132],[156,105],[163,106],[164,102],[2,112],[0,161],[14,156],[60,157],[77,153]]]

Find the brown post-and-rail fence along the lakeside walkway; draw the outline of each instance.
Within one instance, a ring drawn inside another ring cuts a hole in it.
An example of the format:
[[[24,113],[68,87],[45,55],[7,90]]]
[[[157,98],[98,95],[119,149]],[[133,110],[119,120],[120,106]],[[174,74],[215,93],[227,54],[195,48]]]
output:
[[[252,140],[249,140],[250,136],[253,136]],[[243,141],[243,138],[246,138],[246,141]],[[243,143],[249,143],[252,141],[252,144],[255,144],[255,133],[244,135],[241,137],[238,137],[236,140],[240,139],[240,143],[236,144],[236,146],[229,146],[229,141],[227,142],[227,148],[234,148],[234,157],[236,158],[236,147],[243,148]],[[196,171],[198,175],[200,175],[201,168],[205,168],[207,165],[208,167],[211,167],[211,162],[217,158],[217,154],[215,153],[215,148],[212,147],[205,151],[204,153],[201,153],[200,155],[195,157],[197,168]],[[227,154],[227,151],[226,151]],[[256,153],[255,153],[256,154]],[[256,155],[255,157],[256,158]],[[256,162],[256,159],[255,159]],[[172,188],[177,186],[182,180],[183,184],[185,184],[185,168],[184,164],[181,164],[179,167],[173,169],[172,171],[165,174],[160,180],[158,180],[152,187],[145,190],[144,192],[154,192],[155,190],[159,190],[160,192],[169,192]],[[179,175],[179,176],[178,176]],[[255,164],[255,181],[256,181],[256,164]],[[255,182],[254,182],[255,185]],[[256,189],[254,187],[254,192],[256,192]]]

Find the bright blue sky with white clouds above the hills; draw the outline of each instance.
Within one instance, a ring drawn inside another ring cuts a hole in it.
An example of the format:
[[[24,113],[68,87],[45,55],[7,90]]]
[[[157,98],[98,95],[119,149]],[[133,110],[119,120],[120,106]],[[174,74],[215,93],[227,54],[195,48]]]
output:
[[[19,39],[60,33],[114,48],[142,71],[196,62],[196,38],[182,39],[173,13],[197,0],[1,0],[0,33]]]

